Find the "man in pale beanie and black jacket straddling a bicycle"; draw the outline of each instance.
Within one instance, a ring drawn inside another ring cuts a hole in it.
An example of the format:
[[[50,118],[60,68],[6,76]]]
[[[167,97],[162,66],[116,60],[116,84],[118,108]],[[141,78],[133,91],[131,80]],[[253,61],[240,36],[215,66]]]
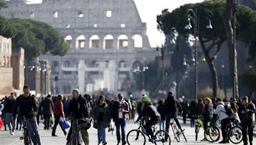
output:
[[[71,114],[72,118],[76,119],[84,119],[89,118],[89,108],[87,106],[86,99],[81,96],[80,90],[78,88],[72,91],[73,99],[70,101],[68,106],[68,114]],[[79,123],[80,127],[83,123]],[[86,129],[81,127],[81,134],[85,145],[89,145],[89,134]],[[76,122],[72,122],[72,144],[75,144],[74,139],[76,135]]]

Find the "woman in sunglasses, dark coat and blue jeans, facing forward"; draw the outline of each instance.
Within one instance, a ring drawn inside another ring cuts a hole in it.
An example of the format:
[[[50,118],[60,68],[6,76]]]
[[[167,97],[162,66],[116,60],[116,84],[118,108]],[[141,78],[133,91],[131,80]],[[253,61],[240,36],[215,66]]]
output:
[[[97,104],[93,107],[93,127],[98,129],[98,144],[107,144],[106,142],[106,128],[108,127],[111,115],[109,111],[108,104],[106,103],[106,98],[100,96]]]

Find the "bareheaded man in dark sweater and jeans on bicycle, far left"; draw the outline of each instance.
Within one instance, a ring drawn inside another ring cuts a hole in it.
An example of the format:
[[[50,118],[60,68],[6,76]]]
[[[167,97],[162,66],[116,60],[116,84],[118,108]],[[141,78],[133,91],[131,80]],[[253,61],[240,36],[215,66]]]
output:
[[[17,97],[13,107],[12,116],[16,116],[17,109],[20,109],[19,116],[25,116],[28,126],[29,135],[33,144],[40,145],[40,135],[38,133],[38,125],[36,123],[35,114],[37,113],[36,100],[29,93],[29,86],[23,87],[23,94]]]

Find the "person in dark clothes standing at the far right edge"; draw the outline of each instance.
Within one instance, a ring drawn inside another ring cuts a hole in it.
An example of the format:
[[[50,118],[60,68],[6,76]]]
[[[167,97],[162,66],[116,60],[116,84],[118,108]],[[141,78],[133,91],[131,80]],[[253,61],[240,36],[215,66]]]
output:
[[[250,145],[253,141],[253,127],[254,127],[254,116],[255,116],[255,104],[250,102],[248,97],[243,98],[243,104],[239,107],[239,118],[241,118],[243,142],[244,145],[248,144],[247,132],[249,136]]]

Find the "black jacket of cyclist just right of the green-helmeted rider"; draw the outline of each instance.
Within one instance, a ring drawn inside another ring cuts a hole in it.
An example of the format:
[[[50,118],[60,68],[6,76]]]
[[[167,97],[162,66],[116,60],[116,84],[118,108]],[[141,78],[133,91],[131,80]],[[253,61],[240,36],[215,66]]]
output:
[[[182,112],[182,108],[179,102],[171,97],[168,97],[166,100],[164,100],[164,109],[165,114],[177,114],[177,109],[179,109],[180,113]]]

